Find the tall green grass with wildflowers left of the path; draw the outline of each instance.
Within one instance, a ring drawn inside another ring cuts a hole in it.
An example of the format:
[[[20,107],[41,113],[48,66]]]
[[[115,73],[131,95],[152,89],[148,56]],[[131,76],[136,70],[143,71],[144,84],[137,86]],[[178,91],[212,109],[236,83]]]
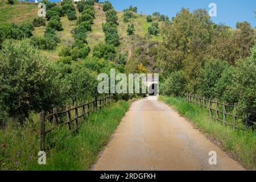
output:
[[[79,134],[59,127],[46,135],[47,165],[40,166],[38,115],[26,126],[9,126],[0,130],[0,170],[89,170],[104,150],[111,135],[129,109],[130,103],[119,101],[98,110],[83,123]],[[18,162],[16,164],[15,162]]]

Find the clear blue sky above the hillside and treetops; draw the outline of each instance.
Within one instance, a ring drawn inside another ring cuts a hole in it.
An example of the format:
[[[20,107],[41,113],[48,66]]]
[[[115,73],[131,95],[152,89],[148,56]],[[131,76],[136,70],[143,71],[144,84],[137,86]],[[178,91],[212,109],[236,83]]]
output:
[[[209,3],[213,2],[217,5],[217,17],[212,18],[213,22],[225,23],[235,28],[237,22],[246,20],[252,27],[256,27],[256,18],[254,18],[256,0],[110,0],[110,2],[116,10],[122,11],[133,5],[138,7],[138,12],[152,14],[158,11],[170,18],[175,16],[182,7],[189,8],[191,11],[195,9],[209,11]]]

